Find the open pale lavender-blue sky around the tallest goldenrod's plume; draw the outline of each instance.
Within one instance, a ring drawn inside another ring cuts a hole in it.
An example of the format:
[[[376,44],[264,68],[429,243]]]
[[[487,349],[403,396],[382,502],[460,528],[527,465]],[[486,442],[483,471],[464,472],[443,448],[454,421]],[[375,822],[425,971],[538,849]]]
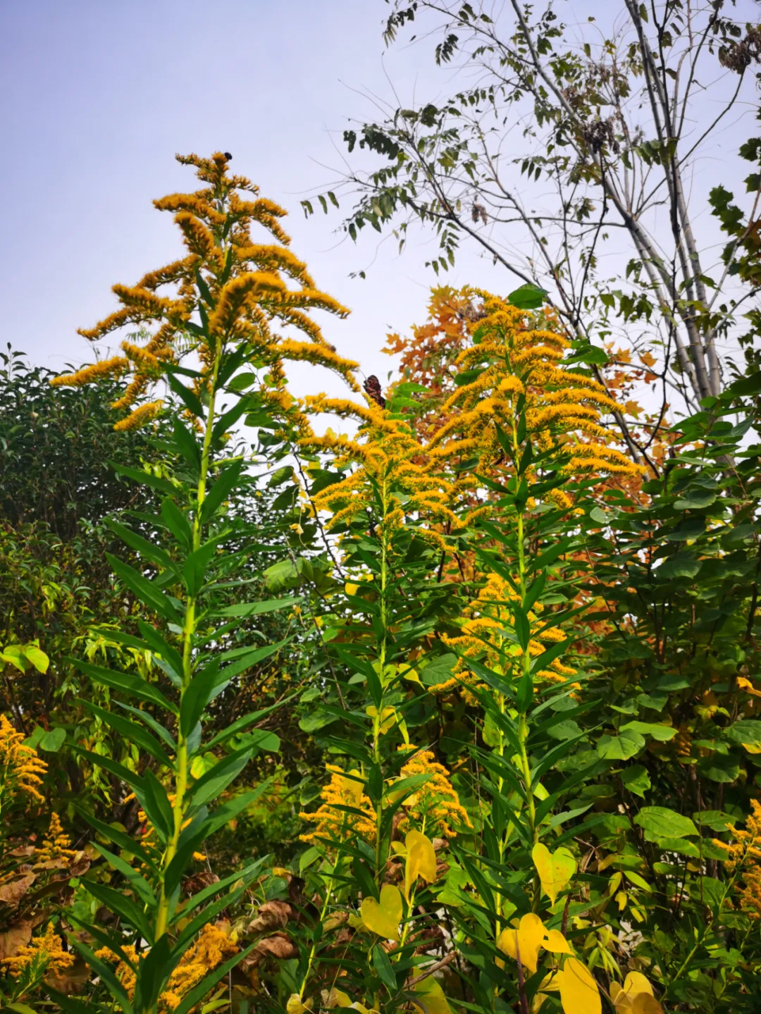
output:
[[[572,0],[564,11],[582,7],[584,20],[612,9]],[[741,8],[757,16],[752,0],[739,0],[742,17]],[[374,236],[357,247],[334,232],[337,214],[306,221],[299,201],[334,178],[325,165],[341,164],[348,119],[373,117],[359,91],[394,101],[393,82],[408,102],[455,90],[430,47],[384,49],[388,9],[382,0],[0,0],[3,345],[56,369],[92,360],[76,328],[115,308],[111,284],[134,284],[178,254],[171,216],[151,206],[194,186],[174,152],[222,149],[291,210],[293,249],[353,308],[349,320],[327,321],[331,341],[384,379],[385,333],[425,317],[435,281],[426,250],[398,258],[388,240],[376,257]],[[366,281],[349,278],[374,260]],[[489,263],[464,256],[448,281],[494,278]],[[508,288],[504,276],[496,284]]]

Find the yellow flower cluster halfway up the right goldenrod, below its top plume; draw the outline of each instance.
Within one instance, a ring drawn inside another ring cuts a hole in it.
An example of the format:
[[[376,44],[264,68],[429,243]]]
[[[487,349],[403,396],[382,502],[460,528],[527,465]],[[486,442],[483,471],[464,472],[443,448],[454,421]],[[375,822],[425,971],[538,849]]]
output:
[[[447,647],[460,655],[453,675],[441,683],[429,686],[432,694],[449,694],[459,690],[464,699],[471,705],[477,705],[476,696],[469,690],[471,686],[485,687],[478,677],[468,669],[468,658],[479,658],[484,665],[494,672],[500,672],[511,679],[517,679],[521,672],[522,652],[520,647],[506,638],[502,631],[512,630],[515,624],[512,602],[517,602],[518,595],[510,584],[499,574],[491,573],[486,583],[478,592],[478,597],[469,604],[471,619],[466,619],[462,634],[451,636],[442,634],[442,641]],[[529,641],[529,654],[537,658],[551,644],[563,640],[562,633],[554,627],[546,627],[542,620],[542,606],[535,603],[529,610],[528,621],[531,625],[532,637]],[[484,655],[485,648],[485,655]],[[505,659],[514,659],[515,665],[505,671]],[[546,668],[538,669],[535,678],[552,682],[565,682],[576,675],[576,669],[554,659]],[[573,684],[579,689],[578,683]]]

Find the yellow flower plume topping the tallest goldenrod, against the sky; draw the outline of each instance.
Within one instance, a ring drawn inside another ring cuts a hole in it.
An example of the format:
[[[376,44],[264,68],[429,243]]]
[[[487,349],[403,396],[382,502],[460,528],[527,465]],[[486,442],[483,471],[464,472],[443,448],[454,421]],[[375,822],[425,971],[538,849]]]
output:
[[[195,351],[202,364],[202,376],[196,381],[196,392],[201,393],[210,382],[214,349],[222,342],[246,343],[255,349],[257,357],[274,367],[271,386],[282,386],[283,378],[277,379],[282,374],[280,363],[293,359],[325,366],[359,390],[353,376],[358,364],[336,355],[305,312],[322,309],[346,316],[349,311],[315,289],[305,265],[288,249],[290,239],[278,221],[286,212],[272,201],[244,199],[241,194],[255,196],[257,188],[244,176],[229,174],[221,152],[211,158],[177,158],[193,165],[205,186],[193,194],[171,194],[154,205],[173,213],[187,255],[149,272],[135,286],[115,285],[122,307],[94,328],[80,331],[95,341],[128,324],[153,328],[147,343],[125,341],[125,356],[57,377],[53,383],[80,386],[129,372],[131,380],[115,402],[115,408],[128,409],[160,377],[168,361]],[[254,224],[277,242],[254,242]],[[170,295],[159,295],[157,290],[165,286],[171,287]],[[275,321],[300,331],[307,341],[275,334],[271,328]],[[160,402],[141,406],[118,428],[142,426],[160,407]]]

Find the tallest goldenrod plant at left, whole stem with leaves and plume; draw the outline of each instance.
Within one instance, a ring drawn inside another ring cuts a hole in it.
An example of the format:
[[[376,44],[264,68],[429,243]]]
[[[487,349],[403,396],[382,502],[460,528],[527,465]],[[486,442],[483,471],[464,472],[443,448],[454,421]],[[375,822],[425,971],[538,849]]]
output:
[[[284,211],[258,198],[246,178],[231,175],[222,153],[179,161],[196,169],[202,189],[155,204],[173,213],[185,255],[135,286],[116,285],[121,308],[82,332],[96,341],[138,325],[147,341],[137,345],[127,338],[124,355],[54,381],[79,385],[124,377],[127,386],[116,407],[128,414],[117,423],[119,429],[149,425],[162,411],[163,400],[153,394],[160,382],[185,409],[173,421],[171,452],[182,462],[173,482],[122,468],[129,479],[163,495],[160,514],[141,517],[149,537],[112,522],[142,559],[136,568],[111,558],[113,572],[155,622],[139,621],[139,637],[113,630],[108,637],[150,653],[161,677],[73,660],[112,696],[109,709],[86,698],[82,707],[135,743],[143,760],[133,769],[85,748],[78,749],[79,755],[121,783],[125,795],[134,793],[154,830],[135,840],[88,816],[101,841],[111,843],[106,848],[98,842],[96,848],[128,889],[90,883],[90,892],[118,918],[119,932],[75,918],[88,942],[79,935],[70,938],[107,988],[111,1003],[128,1014],[166,1007],[184,1014],[245,956],[246,951],[225,945],[210,960],[205,928],[240,898],[261,867],[258,860],[191,896],[183,892],[194,855],[249,806],[265,783],[216,808],[213,804],[256,752],[277,748],[277,737],[254,727],[260,712],[241,716],[212,738],[203,735],[204,713],[214,698],[252,661],[281,647],[225,650],[226,635],[241,615],[292,603],[286,598],[220,607],[217,589],[235,582],[237,562],[226,551],[225,504],[245,468],[244,459],[228,450],[229,434],[243,416],[286,435],[304,428],[305,418],[285,389],[285,359],[326,366],[358,386],[352,375],[356,364],[331,351],[308,315],[315,308],[338,315],[347,310],[315,289],[306,267],[288,248],[280,224]],[[271,241],[258,241],[254,228],[269,232]],[[169,294],[160,294],[164,291]],[[279,335],[277,325],[296,329],[304,341]],[[150,401],[140,401],[149,394]],[[205,763],[199,769],[200,757]],[[83,1006],[53,988],[50,993],[66,1010]]]

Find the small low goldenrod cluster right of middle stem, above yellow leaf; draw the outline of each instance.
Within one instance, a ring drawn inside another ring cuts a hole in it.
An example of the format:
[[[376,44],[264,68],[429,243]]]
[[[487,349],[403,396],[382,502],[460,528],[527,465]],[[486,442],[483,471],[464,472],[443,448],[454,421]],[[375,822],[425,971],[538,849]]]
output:
[[[460,803],[460,797],[449,780],[449,772],[438,764],[432,750],[420,750],[415,746],[400,746],[399,750],[415,750],[402,765],[401,778],[414,775],[430,775],[431,778],[411,796],[404,800],[404,817],[399,821],[401,831],[412,826],[420,828],[429,838],[455,838],[457,828],[472,828],[470,817]]]

